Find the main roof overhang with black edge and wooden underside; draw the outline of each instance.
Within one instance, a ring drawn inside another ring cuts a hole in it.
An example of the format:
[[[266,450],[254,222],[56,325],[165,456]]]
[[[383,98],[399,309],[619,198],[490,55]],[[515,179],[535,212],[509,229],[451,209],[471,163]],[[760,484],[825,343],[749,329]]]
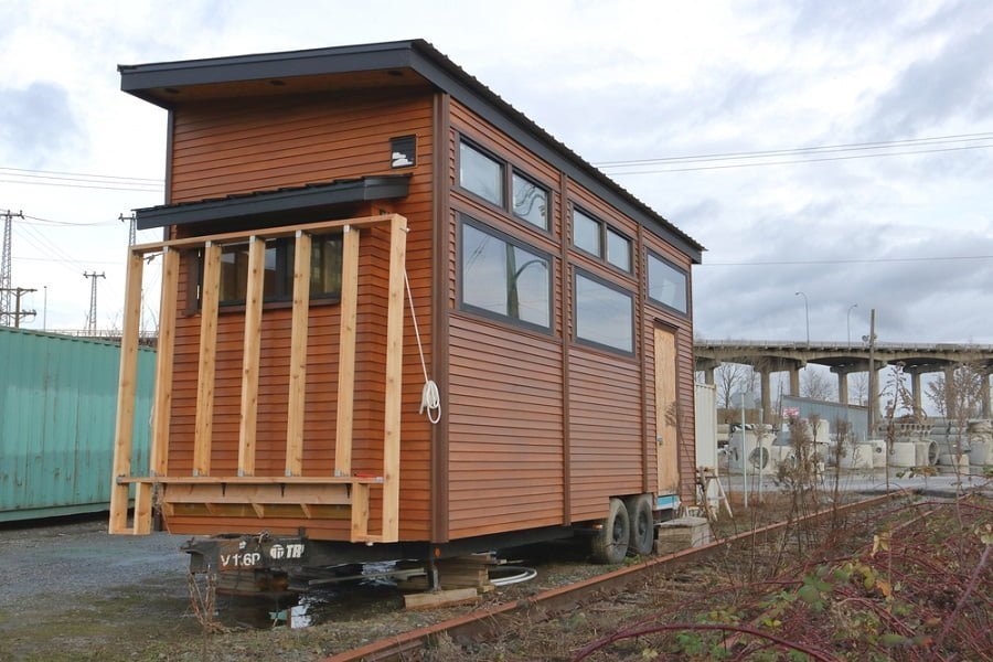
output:
[[[163,108],[247,95],[426,85],[442,90],[700,264],[704,247],[424,40],[119,65],[124,92]]]

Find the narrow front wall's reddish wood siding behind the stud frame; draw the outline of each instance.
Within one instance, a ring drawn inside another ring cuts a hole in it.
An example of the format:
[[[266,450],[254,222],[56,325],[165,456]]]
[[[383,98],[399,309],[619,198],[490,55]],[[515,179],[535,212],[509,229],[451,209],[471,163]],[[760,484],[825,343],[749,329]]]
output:
[[[348,97],[236,99],[181,106],[171,139],[171,201],[199,201],[234,193],[329,182],[375,174],[412,173],[402,201],[364,213],[396,212],[407,217],[407,271],[420,323],[425,355],[431,361],[433,260],[433,95],[430,90]],[[417,164],[392,170],[389,139],[415,135]],[[348,217],[348,213],[342,214]],[[206,234],[183,227],[182,233]],[[169,442],[170,473],[192,471],[193,426],[200,316],[183,313],[194,271],[183,255],[180,318],[177,324],[175,397]],[[360,254],[353,471],[382,474],[383,388],[385,361],[385,232],[363,233]],[[405,305],[406,309],[406,305]],[[256,474],[282,476],[289,381],[289,308],[267,305],[263,313],[259,365],[258,450]],[[405,313],[401,538],[426,540],[430,530],[431,428],[418,415],[423,373],[410,316]],[[339,307],[312,301],[310,311],[303,473],[330,474],[334,458],[338,389]],[[217,324],[216,399],[213,416],[212,474],[237,469],[238,402],[244,314],[222,309]],[[381,499],[373,489],[372,522]],[[293,534],[306,527],[314,538],[348,538],[348,511],[341,520],[288,517],[183,517],[168,522],[173,533],[255,532]],[[370,533],[376,533],[371,530]]]

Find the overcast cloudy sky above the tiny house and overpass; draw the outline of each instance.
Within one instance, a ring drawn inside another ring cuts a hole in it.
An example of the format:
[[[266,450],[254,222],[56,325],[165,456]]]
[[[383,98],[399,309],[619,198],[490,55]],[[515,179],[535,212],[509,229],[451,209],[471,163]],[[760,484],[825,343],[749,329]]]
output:
[[[803,340],[802,291],[814,341],[875,308],[880,341],[993,343],[993,3],[468,4],[0,3],[25,325],[47,286],[49,328],[82,328],[84,270],[119,324],[117,217],[162,202],[166,113],[117,64],[424,38],[707,247],[698,337]]]

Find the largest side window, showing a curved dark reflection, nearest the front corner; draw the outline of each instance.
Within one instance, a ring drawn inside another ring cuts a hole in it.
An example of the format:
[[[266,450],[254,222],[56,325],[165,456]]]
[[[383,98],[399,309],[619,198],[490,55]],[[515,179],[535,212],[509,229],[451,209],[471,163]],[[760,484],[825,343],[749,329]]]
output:
[[[552,265],[546,255],[462,221],[462,307],[543,330],[551,328]]]

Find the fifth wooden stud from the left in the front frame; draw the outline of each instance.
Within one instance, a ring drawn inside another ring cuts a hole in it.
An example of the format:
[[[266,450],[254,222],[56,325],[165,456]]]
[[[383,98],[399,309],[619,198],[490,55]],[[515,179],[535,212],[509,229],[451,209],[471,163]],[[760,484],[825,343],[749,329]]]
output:
[[[303,405],[307,397],[307,331],[310,317],[311,238],[297,232],[293,255],[293,321],[290,331],[290,383],[286,425],[286,474],[303,472]]]

